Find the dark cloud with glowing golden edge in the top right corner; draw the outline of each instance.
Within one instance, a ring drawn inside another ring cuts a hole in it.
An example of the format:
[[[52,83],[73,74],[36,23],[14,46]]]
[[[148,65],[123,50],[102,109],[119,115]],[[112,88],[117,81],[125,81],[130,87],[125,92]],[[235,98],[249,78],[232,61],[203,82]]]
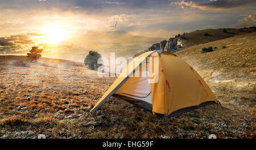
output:
[[[229,8],[255,5],[254,0],[217,0],[217,1],[170,1],[171,5],[179,5],[181,8],[199,8],[200,10],[228,10]]]

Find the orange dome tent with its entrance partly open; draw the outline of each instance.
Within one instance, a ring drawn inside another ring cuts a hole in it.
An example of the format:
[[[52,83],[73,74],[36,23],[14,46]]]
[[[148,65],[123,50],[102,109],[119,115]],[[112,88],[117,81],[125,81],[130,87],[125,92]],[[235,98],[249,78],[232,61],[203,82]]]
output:
[[[144,73],[147,76],[143,76]],[[164,118],[208,104],[220,104],[188,63],[161,50],[143,53],[129,62],[90,112],[97,110],[110,96]]]

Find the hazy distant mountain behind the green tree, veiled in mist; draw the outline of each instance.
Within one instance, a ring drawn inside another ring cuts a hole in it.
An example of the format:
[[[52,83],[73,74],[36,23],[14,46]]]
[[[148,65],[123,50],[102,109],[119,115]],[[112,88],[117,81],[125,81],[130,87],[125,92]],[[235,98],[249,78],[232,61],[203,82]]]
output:
[[[115,52],[116,57],[133,57],[154,42],[164,40],[163,37],[134,36],[125,31],[97,32],[88,31],[81,37],[71,39],[85,51],[96,50],[106,57],[110,52]],[[84,59],[84,56],[83,56]]]

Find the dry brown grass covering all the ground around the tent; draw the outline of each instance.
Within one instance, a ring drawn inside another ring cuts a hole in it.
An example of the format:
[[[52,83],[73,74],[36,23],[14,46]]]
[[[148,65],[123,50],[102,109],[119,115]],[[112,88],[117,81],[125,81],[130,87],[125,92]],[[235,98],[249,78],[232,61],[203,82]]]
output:
[[[115,78],[99,78],[82,63],[0,56],[0,138],[255,138],[255,33],[177,52],[212,88],[222,105],[164,120],[110,97],[89,110]],[[226,45],[226,49],[220,49]],[[207,46],[214,52],[201,54]]]

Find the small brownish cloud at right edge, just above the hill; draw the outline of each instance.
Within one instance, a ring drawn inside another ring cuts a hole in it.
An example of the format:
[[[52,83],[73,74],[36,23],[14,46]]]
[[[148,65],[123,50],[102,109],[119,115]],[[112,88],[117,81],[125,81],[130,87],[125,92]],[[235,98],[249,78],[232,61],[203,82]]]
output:
[[[245,18],[238,20],[237,27],[252,27],[256,26],[256,12],[254,14],[250,14]]]

